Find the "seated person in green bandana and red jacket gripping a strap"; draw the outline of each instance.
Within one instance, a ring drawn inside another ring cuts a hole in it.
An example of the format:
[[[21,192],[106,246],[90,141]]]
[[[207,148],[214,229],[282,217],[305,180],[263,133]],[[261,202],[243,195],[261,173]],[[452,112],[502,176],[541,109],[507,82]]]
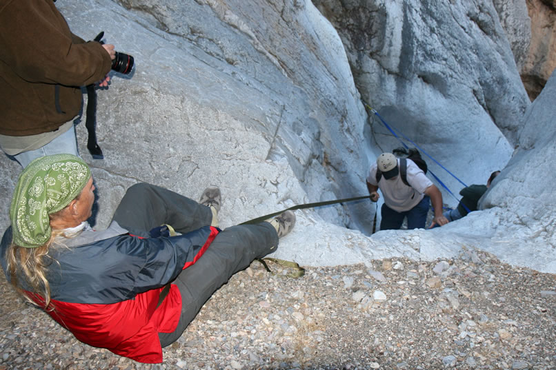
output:
[[[123,196],[108,229],[94,231],[86,222],[94,190],[77,156],[30,163],[14,190],[1,264],[24,297],[78,340],[139,362],[162,362],[161,348],[181,336],[212,293],[275,251],[295,224],[287,211],[221,231],[217,187],[197,203],[139,183]]]

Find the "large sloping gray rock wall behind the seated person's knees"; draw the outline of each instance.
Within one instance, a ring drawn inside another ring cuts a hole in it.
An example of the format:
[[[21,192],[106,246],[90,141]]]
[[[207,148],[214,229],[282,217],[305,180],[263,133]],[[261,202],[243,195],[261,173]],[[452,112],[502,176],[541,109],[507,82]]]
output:
[[[192,198],[220,185],[224,227],[367,192],[366,112],[337,32],[310,1],[118,4],[57,1],[75,34],[92,39],[103,30],[136,61],[132,76],[114,75],[98,92],[104,160],[86,150],[84,117],[77,125],[97,181],[98,227],[137,181]],[[0,165],[0,187],[11,194],[19,166],[6,157]],[[365,231],[369,203],[318,213]]]

